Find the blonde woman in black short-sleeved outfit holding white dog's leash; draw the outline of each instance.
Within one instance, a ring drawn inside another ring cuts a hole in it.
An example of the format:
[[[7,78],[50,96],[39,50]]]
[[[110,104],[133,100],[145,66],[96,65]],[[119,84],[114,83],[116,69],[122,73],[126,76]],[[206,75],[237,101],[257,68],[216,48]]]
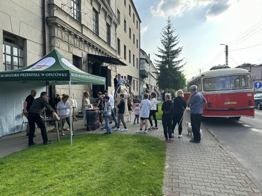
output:
[[[186,101],[183,98],[184,93],[182,90],[177,91],[177,97],[173,99],[174,113],[173,113],[173,124],[172,124],[172,137],[175,137],[174,130],[176,125],[178,126],[178,138],[181,138],[182,135],[182,121],[183,113],[186,110]]]

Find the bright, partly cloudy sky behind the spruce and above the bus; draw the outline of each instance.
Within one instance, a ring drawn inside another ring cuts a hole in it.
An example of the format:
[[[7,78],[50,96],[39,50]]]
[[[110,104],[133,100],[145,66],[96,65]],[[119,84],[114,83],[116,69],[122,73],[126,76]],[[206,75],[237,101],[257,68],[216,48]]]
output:
[[[211,67],[262,63],[262,0],[133,0],[140,24],[141,49],[154,62],[157,46],[170,16],[173,36],[183,47],[183,73],[191,79]],[[225,44],[225,45],[220,45]],[[200,69],[200,70],[199,70]]]

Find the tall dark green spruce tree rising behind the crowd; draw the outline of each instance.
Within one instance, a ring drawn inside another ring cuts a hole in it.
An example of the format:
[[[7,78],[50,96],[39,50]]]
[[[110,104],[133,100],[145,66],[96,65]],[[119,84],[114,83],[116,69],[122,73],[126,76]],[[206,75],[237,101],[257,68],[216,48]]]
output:
[[[167,25],[163,28],[161,33],[161,44],[163,49],[157,46],[157,51],[160,54],[155,54],[161,60],[155,60],[157,65],[157,84],[161,89],[180,89],[180,85],[186,83],[185,75],[181,69],[185,63],[180,65],[183,59],[177,60],[181,54],[183,47],[177,47],[179,44],[179,37],[173,36],[174,29],[170,16],[167,19]]]

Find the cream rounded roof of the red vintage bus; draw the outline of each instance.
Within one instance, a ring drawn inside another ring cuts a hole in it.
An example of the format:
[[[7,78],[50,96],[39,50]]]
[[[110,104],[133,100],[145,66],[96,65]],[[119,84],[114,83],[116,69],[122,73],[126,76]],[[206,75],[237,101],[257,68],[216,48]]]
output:
[[[234,75],[234,74],[251,74],[248,70],[241,68],[225,68],[225,69],[215,69],[210,71],[205,71],[201,75],[204,74],[204,77],[214,76],[214,75]],[[198,75],[197,77],[201,77]]]

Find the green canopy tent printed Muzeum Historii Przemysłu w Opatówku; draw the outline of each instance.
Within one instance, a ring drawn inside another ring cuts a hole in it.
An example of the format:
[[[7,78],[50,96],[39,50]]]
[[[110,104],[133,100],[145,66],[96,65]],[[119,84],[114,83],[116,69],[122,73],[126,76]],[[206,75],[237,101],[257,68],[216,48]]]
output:
[[[56,49],[52,50],[46,56],[27,67],[10,71],[1,71],[0,82],[10,81],[42,81],[45,83],[47,82],[47,85],[69,84],[69,94],[71,94],[71,84],[105,85],[105,78],[91,75],[78,69],[68,60],[66,60],[66,58],[62,56]],[[69,97],[71,103],[71,96]],[[70,119],[72,120],[71,110]],[[70,129],[72,132],[72,123]]]

